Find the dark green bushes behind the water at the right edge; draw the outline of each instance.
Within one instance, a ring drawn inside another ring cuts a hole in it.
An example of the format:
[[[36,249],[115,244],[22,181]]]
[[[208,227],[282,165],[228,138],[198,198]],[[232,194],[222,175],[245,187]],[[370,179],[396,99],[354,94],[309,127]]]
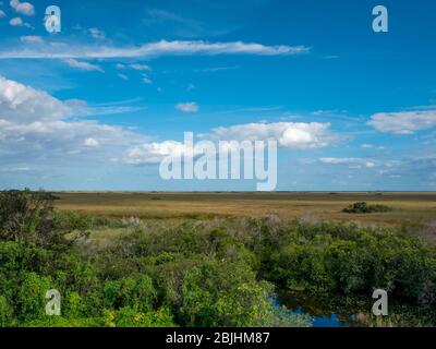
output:
[[[367,296],[382,288],[397,299],[434,303],[434,246],[355,226],[299,224],[288,231],[293,238],[264,255],[264,277],[272,282],[313,294]]]

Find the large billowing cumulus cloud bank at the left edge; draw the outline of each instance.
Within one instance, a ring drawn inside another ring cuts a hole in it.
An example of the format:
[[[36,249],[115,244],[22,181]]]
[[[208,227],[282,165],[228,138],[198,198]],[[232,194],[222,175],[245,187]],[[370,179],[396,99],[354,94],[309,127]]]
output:
[[[0,160],[32,163],[73,155],[122,156],[146,137],[94,120],[73,120],[76,104],[0,76]]]

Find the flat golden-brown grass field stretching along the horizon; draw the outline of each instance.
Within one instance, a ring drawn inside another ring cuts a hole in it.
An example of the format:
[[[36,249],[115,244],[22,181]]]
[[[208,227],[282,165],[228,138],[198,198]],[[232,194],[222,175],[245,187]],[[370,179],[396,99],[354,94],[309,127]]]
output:
[[[262,217],[277,215],[282,219],[360,221],[397,226],[403,222],[436,222],[436,193],[57,193],[59,209],[72,209],[108,217],[142,219],[213,218],[226,216]],[[341,210],[365,201],[395,208],[391,213],[350,215]]]

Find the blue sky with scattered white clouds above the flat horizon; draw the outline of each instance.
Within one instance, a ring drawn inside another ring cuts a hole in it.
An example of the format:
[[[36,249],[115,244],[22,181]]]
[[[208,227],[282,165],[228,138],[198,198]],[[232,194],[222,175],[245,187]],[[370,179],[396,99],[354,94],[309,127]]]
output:
[[[161,180],[192,131],[277,137],[280,191],[434,191],[435,33],[425,0],[2,0],[0,186],[255,190]]]

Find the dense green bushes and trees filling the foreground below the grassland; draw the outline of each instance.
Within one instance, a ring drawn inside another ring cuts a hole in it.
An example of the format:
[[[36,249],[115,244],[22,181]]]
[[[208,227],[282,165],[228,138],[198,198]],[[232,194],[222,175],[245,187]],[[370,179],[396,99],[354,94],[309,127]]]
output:
[[[0,193],[0,326],[305,326],[275,288],[435,309],[436,250],[401,231],[278,218],[158,221],[53,209]],[[98,243],[108,229],[119,237]],[[92,231],[92,234],[89,232]],[[45,314],[46,291],[62,316]]]

